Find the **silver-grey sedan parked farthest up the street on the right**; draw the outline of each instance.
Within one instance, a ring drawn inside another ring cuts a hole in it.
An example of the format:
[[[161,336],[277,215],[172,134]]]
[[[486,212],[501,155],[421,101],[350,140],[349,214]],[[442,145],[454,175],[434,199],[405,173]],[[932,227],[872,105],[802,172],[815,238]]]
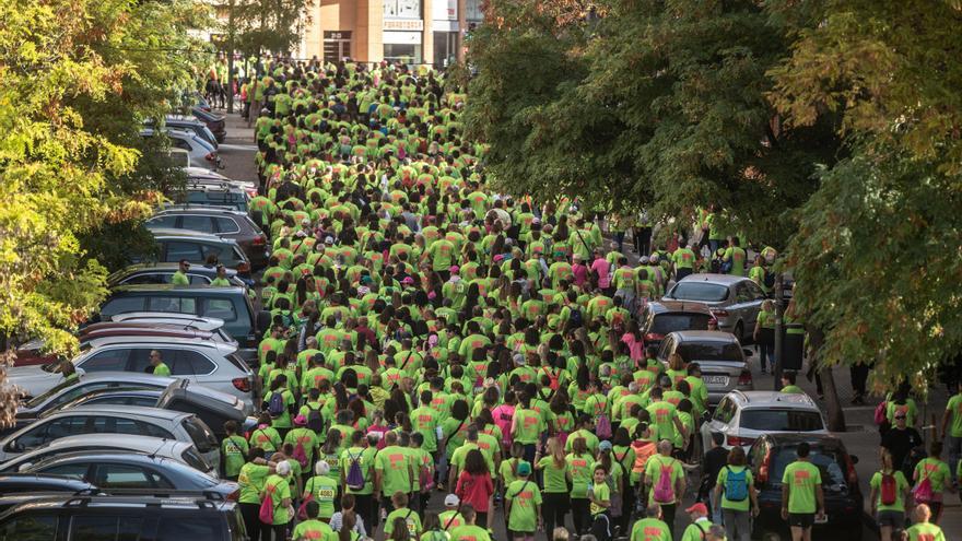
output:
[[[751,340],[765,292],[744,277],[689,274],[674,284],[662,301],[702,303],[718,320],[718,330]]]

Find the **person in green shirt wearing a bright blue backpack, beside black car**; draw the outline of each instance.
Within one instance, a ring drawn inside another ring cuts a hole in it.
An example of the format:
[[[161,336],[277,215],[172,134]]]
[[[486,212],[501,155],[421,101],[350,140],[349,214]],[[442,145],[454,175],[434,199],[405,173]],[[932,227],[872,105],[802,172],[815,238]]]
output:
[[[741,446],[728,451],[728,464],[718,472],[715,483],[715,501],[720,501],[725,534],[729,541],[749,541],[751,516],[759,514],[759,498]]]

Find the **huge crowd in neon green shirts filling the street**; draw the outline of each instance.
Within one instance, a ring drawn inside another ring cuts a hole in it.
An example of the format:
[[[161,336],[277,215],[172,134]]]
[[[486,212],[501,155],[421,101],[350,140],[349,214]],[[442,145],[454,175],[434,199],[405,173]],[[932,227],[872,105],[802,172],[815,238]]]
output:
[[[692,272],[769,291],[773,248],[749,261],[712,207],[662,239],[644,214],[614,216],[611,243],[577,201],[492,193],[486,148],[465,138],[468,97],[431,69],[277,62],[247,84],[272,326],[259,424],[228,426],[222,450],[250,539],[749,539],[759,504],[741,447],[706,450],[722,464],[712,491],[682,506],[707,391],[696,363],[656,358],[637,315]],[[954,480],[929,473],[943,472],[936,451],[913,479],[940,494]],[[797,540],[824,514],[807,455],[783,479]],[[882,457],[872,486],[888,502]],[[890,533],[904,527],[893,506],[879,507]],[[917,534],[938,529],[938,507],[914,506],[910,539],[941,539]],[[676,531],[681,511],[691,522]]]

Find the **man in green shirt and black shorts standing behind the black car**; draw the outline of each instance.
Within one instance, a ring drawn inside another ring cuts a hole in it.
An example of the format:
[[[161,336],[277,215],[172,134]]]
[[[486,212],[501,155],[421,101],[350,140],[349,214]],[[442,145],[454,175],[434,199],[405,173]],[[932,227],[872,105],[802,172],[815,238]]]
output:
[[[798,460],[782,475],[782,518],[788,521],[793,541],[811,541],[816,517],[825,514],[822,475],[809,460],[810,451],[808,442],[798,444]]]

